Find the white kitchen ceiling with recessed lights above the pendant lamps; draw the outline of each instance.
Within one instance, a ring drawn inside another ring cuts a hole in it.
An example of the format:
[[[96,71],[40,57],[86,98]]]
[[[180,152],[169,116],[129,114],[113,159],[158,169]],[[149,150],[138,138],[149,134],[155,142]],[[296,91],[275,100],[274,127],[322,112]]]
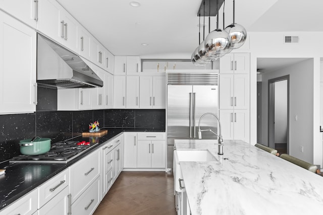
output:
[[[131,0],[57,1],[114,55],[190,56],[198,45],[196,14],[202,0],[135,0],[140,3],[137,8],[130,6]],[[236,0],[235,21],[247,32],[323,31],[323,1],[304,2]],[[225,2],[225,26],[232,22],[232,5],[232,0]],[[222,28],[222,15],[219,18]],[[210,28],[216,28],[214,17]],[[208,26],[205,37],[207,33]],[[201,33],[201,41],[202,37]]]

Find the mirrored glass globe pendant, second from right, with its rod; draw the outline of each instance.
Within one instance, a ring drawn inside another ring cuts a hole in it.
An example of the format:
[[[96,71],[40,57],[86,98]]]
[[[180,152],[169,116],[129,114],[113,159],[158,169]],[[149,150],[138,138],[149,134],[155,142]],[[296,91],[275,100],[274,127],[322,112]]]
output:
[[[231,37],[228,32],[219,29],[219,7],[217,0],[217,29],[209,33],[205,38],[207,53],[216,58],[222,57],[231,50]]]

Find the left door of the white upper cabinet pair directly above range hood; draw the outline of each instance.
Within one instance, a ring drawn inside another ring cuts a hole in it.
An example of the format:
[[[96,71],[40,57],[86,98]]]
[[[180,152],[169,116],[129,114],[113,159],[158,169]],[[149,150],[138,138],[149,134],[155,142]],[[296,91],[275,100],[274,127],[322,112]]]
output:
[[[65,26],[61,20],[63,7],[55,0],[38,0],[37,30],[47,37],[62,42]]]

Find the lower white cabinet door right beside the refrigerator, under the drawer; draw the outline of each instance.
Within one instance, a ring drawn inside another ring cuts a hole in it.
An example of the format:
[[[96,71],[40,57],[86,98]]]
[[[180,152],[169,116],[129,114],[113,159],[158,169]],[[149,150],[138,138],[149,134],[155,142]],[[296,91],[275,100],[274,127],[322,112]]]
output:
[[[165,140],[151,141],[151,168],[165,168]]]

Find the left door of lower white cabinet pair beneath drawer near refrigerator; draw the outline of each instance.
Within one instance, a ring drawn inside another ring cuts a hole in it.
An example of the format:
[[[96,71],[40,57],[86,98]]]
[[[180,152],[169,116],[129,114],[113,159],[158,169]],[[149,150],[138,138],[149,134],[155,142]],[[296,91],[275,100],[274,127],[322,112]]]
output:
[[[151,167],[151,140],[138,140],[137,168]]]

